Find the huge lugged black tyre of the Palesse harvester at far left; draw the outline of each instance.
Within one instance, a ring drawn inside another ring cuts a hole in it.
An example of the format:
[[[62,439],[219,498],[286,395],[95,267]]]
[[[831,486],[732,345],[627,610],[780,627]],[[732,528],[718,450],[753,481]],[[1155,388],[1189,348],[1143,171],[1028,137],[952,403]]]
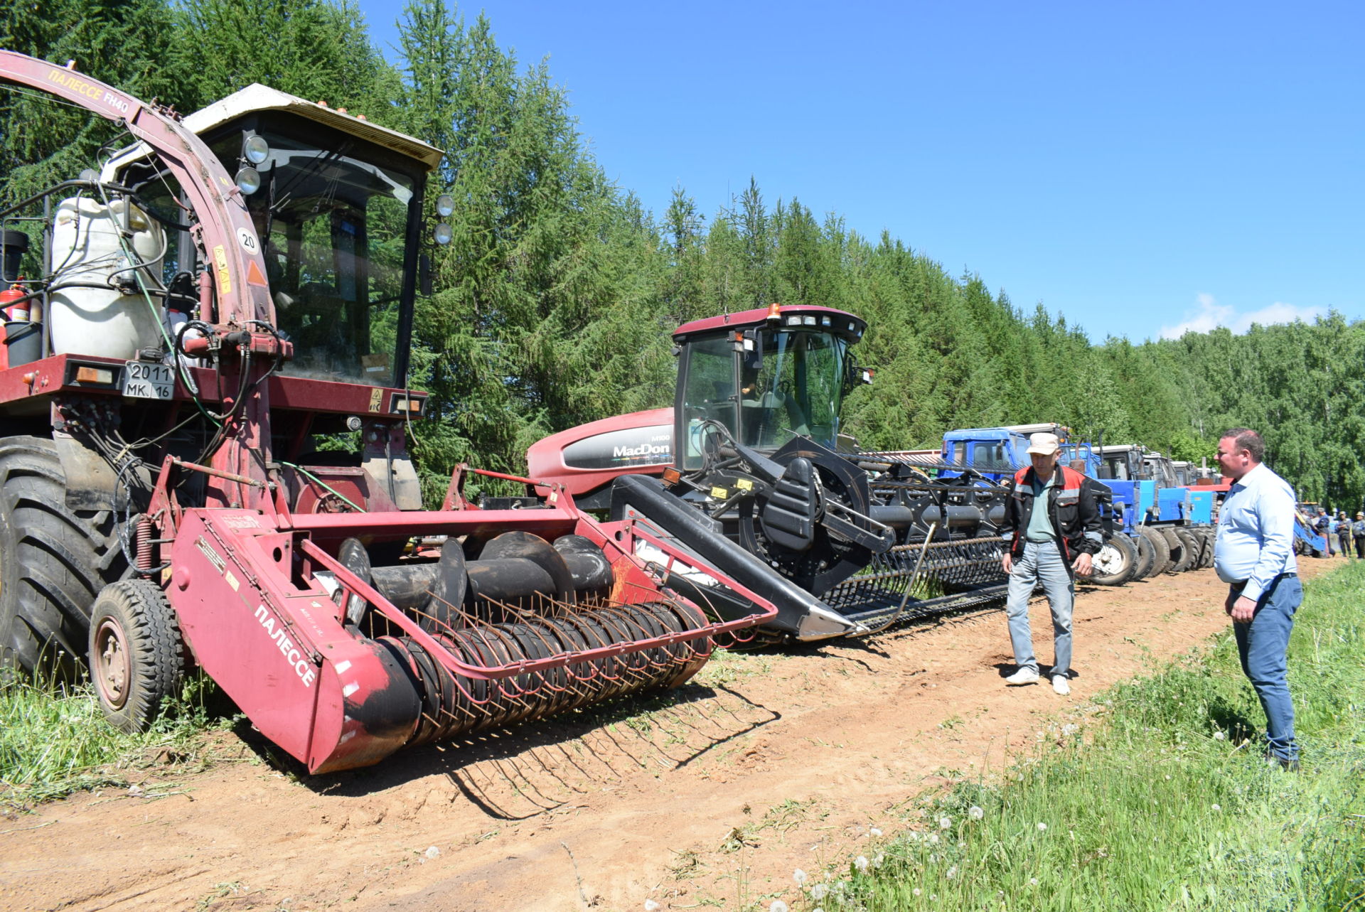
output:
[[[0,438],[0,676],[81,673],[90,605],[127,573],[113,511],[66,505],[51,440]]]

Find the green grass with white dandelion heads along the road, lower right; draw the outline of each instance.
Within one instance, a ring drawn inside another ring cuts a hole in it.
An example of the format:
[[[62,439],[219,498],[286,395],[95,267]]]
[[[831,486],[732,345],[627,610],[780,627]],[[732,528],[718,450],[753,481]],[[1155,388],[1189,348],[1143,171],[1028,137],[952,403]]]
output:
[[[1263,759],[1231,631],[1099,698],[1007,770],[811,878],[797,909],[1365,909],[1365,567],[1306,587],[1290,643],[1302,771]]]

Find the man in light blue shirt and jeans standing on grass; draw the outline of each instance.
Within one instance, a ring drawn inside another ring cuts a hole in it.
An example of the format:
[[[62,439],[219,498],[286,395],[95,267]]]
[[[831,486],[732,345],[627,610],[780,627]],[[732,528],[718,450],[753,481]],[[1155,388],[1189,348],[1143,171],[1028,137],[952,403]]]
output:
[[[1234,427],[1218,441],[1218,464],[1235,483],[1218,516],[1213,568],[1228,584],[1224,609],[1233,618],[1242,672],[1265,710],[1267,756],[1298,769],[1294,703],[1286,677],[1289,635],[1304,601],[1294,560],[1294,489],[1261,464],[1260,434]]]

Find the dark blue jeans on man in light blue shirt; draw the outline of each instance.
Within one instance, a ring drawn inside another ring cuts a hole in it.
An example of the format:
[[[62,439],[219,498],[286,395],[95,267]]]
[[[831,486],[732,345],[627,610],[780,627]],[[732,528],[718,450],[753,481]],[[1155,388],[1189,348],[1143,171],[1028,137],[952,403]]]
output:
[[[1265,710],[1265,740],[1279,760],[1298,758],[1294,743],[1294,703],[1289,698],[1284,653],[1294,629],[1294,612],[1304,601],[1304,584],[1297,576],[1280,576],[1261,593],[1250,624],[1233,624],[1242,672],[1256,688]]]

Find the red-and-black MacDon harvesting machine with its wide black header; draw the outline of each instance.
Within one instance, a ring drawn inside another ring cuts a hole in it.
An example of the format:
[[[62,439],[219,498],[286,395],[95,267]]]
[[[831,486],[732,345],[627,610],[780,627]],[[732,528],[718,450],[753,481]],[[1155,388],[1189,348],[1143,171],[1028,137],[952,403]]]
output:
[[[991,601],[999,489],[844,446],[844,397],[871,381],[850,351],[864,328],[830,307],[778,304],[685,324],[672,410],[547,437],[527,452],[530,474],[774,594],[766,629],[778,639],[861,635]],[[688,584],[728,598],[715,578],[682,573]]]

